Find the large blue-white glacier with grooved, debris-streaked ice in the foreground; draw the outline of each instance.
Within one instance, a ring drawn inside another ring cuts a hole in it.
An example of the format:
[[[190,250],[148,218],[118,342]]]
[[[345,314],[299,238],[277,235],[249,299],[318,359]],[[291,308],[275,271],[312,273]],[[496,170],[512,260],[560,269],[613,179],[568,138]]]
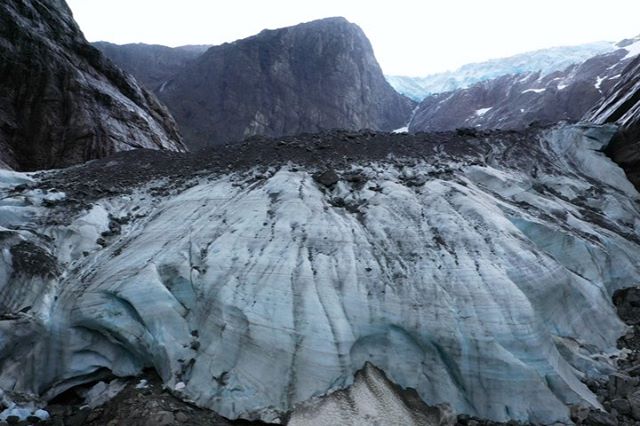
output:
[[[199,406],[282,422],[370,364],[458,413],[569,422],[599,406],[581,379],[620,355],[611,294],[640,281],[640,194],[601,152],[614,131],[388,135],[378,156],[353,137],[348,156],[90,197],[69,173],[87,192],[90,170],[154,166],[2,171],[0,389],[51,399],[154,368]]]

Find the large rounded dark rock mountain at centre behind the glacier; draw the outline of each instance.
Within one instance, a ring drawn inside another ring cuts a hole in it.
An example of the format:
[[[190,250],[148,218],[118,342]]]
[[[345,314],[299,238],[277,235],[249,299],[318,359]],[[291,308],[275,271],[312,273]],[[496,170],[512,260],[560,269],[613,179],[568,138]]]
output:
[[[332,128],[388,131],[406,125],[413,108],[343,18],[212,47],[157,94],[192,148]]]

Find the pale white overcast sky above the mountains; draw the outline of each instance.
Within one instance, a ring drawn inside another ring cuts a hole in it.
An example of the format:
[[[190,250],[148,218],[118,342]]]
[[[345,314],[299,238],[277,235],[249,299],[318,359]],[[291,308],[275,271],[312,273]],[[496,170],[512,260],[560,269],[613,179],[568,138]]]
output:
[[[330,16],[358,24],[385,74],[423,76],[640,34],[638,0],[67,0],[89,41],[221,44]]]

